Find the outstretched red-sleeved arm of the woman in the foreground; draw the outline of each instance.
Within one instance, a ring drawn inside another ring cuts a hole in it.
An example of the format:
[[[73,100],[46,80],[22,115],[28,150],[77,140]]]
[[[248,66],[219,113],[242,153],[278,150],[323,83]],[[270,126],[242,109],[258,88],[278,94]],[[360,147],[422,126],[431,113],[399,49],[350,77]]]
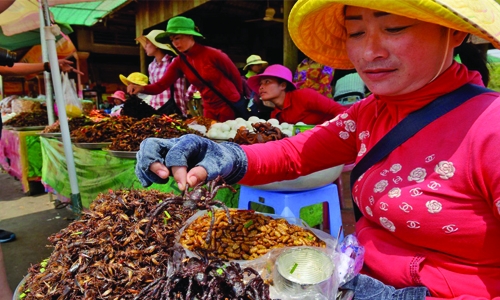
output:
[[[248,169],[240,183],[258,185],[290,180],[354,162],[357,153],[356,134],[354,131],[347,134],[345,130],[346,126],[354,122],[350,114],[353,108],[338,115],[326,125],[318,125],[294,137],[242,146],[248,159]],[[355,130],[354,127],[349,128]]]

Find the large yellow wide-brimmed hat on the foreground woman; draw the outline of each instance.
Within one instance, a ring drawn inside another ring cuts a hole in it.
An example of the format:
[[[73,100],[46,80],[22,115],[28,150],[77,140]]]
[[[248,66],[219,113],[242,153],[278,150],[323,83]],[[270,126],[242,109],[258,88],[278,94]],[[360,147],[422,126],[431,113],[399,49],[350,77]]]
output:
[[[500,5],[494,0],[298,0],[288,18],[295,45],[313,60],[352,69],[344,7],[359,6],[471,33],[500,48]]]

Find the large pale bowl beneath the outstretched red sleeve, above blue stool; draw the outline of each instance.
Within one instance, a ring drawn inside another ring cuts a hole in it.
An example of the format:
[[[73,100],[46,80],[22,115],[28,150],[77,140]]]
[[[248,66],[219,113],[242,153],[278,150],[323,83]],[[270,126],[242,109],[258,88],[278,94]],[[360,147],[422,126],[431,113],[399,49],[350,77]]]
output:
[[[306,191],[310,189],[319,188],[334,182],[342,173],[344,165],[338,165],[318,172],[311,173],[306,176],[301,176],[292,180],[276,181],[262,185],[255,185],[252,188],[261,189],[265,191],[276,192],[294,192]]]

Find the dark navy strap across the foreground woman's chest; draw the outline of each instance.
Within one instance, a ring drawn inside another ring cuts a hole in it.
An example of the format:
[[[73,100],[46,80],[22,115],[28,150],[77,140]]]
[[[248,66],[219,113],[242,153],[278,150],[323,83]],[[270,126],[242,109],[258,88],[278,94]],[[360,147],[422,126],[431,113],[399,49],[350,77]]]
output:
[[[491,90],[473,84],[465,84],[451,93],[443,95],[421,109],[412,112],[391,131],[389,131],[380,141],[368,151],[368,153],[356,163],[351,172],[351,194],[354,183],[371,166],[375,165],[381,159],[389,155],[399,145],[403,144],[410,137],[415,135],[420,129],[424,128],[432,121],[443,116],[447,112],[460,106],[470,98],[482,93],[491,92]],[[353,197],[354,198],[354,197]],[[361,218],[362,213],[359,207],[354,203],[354,216],[356,220]]]

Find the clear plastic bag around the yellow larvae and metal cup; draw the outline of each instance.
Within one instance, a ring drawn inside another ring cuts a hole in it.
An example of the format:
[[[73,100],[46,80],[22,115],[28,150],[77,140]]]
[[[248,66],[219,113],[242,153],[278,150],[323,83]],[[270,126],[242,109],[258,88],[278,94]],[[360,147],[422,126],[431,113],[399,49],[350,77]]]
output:
[[[206,210],[199,211],[186,221],[184,227],[179,230],[179,235],[176,239],[176,244],[182,247],[179,240],[184,229],[187,228],[197,218],[205,214],[207,214]],[[279,276],[276,270],[276,260],[284,251],[295,248],[314,248],[326,254],[331,259],[334,268],[336,269],[336,266],[339,263],[339,255],[336,251],[337,239],[334,238],[332,235],[324,231],[309,227],[304,221],[302,221],[299,218],[283,218],[282,216],[274,214],[263,214],[263,215],[270,216],[275,219],[285,219],[290,224],[294,224],[311,231],[319,239],[325,242],[326,247],[318,248],[310,246],[297,246],[297,247],[276,248],[253,260],[232,260],[232,262],[238,263],[242,269],[250,267],[256,270],[264,281],[276,282],[277,276]],[[197,256],[192,251],[186,248],[184,249],[186,250],[188,257]],[[270,285],[269,291],[271,299],[327,300],[335,298],[338,291],[338,287],[339,287],[338,274],[336,271],[334,271],[333,274],[331,274],[331,276],[328,279],[326,279],[325,281],[321,282],[320,285],[318,285],[318,288],[313,288],[308,290],[302,289],[301,293],[297,293],[296,290],[289,290],[278,284],[272,284]]]

